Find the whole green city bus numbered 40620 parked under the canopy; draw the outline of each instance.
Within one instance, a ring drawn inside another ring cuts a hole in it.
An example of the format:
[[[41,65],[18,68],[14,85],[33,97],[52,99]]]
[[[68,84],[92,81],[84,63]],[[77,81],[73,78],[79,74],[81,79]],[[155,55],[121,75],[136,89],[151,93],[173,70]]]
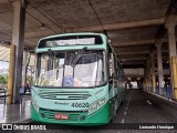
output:
[[[31,120],[102,125],[124,99],[124,73],[103,33],[65,33],[40,39],[35,49]]]

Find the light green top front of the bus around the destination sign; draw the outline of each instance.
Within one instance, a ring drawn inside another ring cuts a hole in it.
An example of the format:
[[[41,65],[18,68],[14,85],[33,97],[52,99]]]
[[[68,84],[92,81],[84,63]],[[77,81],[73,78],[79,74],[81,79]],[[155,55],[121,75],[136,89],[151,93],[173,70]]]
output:
[[[45,51],[45,49],[61,48],[64,49],[77,49],[86,45],[92,49],[94,48],[104,48],[106,49],[107,37],[103,33],[93,33],[93,32],[77,32],[77,33],[63,33],[44,37],[39,40],[37,52],[40,49]],[[72,47],[72,48],[71,48]]]

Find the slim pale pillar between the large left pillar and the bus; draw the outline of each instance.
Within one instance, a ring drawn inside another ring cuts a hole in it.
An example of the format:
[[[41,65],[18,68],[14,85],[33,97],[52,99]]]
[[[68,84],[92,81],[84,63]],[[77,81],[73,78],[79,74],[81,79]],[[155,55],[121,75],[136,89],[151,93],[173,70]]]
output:
[[[27,68],[27,51],[23,51],[23,76],[22,76],[22,85],[24,85],[24,83],[27,83],[27,72],[28,72],[28,68]]]

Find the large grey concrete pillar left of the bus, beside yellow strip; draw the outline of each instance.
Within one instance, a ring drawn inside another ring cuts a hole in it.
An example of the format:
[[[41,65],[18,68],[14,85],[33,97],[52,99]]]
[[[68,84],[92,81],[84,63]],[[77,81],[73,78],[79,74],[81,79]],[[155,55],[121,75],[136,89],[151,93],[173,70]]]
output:
[[[14,63],[14,84],[13,84],[13,103],[19,103],[19,88],[22,83],[22,57],[24,45],[24,21],[25,7],[24,0],[11,0],[13,6],[13,27],[12,44],[17,45]]]

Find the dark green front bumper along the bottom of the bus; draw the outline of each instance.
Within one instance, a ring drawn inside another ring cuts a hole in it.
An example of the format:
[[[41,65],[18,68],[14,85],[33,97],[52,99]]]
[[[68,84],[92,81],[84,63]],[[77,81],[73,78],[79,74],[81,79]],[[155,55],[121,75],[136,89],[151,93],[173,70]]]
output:
[[[49,112],[50,113],[50,112]],[[51,115],[50,115],[51,116]],[[31,120],[42,123],[59,123],[59,124],[70,124],[70,125],[103,125],[110,122],[110,104],[105,103],[100,110],[92,114],[85,114],[84,120],[55,120],[54,114],[52,117],[42,117],[41,112],[39,113],[31,104]]]

